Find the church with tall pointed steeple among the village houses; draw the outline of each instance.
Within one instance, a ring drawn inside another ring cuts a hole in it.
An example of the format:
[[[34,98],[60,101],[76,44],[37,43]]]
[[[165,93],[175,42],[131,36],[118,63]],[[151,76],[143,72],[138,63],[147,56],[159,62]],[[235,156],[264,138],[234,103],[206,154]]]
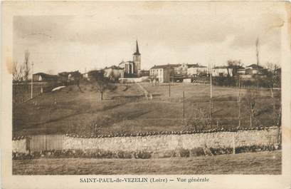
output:
[[[140,53],[139,53],[139,44],[136,44],[136,50],[133,53],[132,61],[122,61],[119,64],[120,68],[123,68],[125,71],[125,78],[137,78],[141,71],[140,68]]]

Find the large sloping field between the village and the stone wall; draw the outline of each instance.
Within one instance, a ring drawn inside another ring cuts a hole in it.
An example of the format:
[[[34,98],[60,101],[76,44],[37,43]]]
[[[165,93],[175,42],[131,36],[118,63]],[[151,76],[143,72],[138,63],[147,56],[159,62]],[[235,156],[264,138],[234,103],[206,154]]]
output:
[[[103,101],[92,83],[83,82],[80,88],[82,91],[77,86],[67,86],[25,103],[14,103],[14,136],[45,133],[92,136],[238,127],[238,88],[213,86],[211,119],[209,85],[174,83],[169,97],[166,83],[157,86],[115,83],[114,89],[105,92]],[[248,89],[240,89],[240,127],[250,127],[248,94]],[[274,98],[270,96],[269,89],[260,89],[255,98],[253,126],[277,123],[280,91],[274,91]]]

